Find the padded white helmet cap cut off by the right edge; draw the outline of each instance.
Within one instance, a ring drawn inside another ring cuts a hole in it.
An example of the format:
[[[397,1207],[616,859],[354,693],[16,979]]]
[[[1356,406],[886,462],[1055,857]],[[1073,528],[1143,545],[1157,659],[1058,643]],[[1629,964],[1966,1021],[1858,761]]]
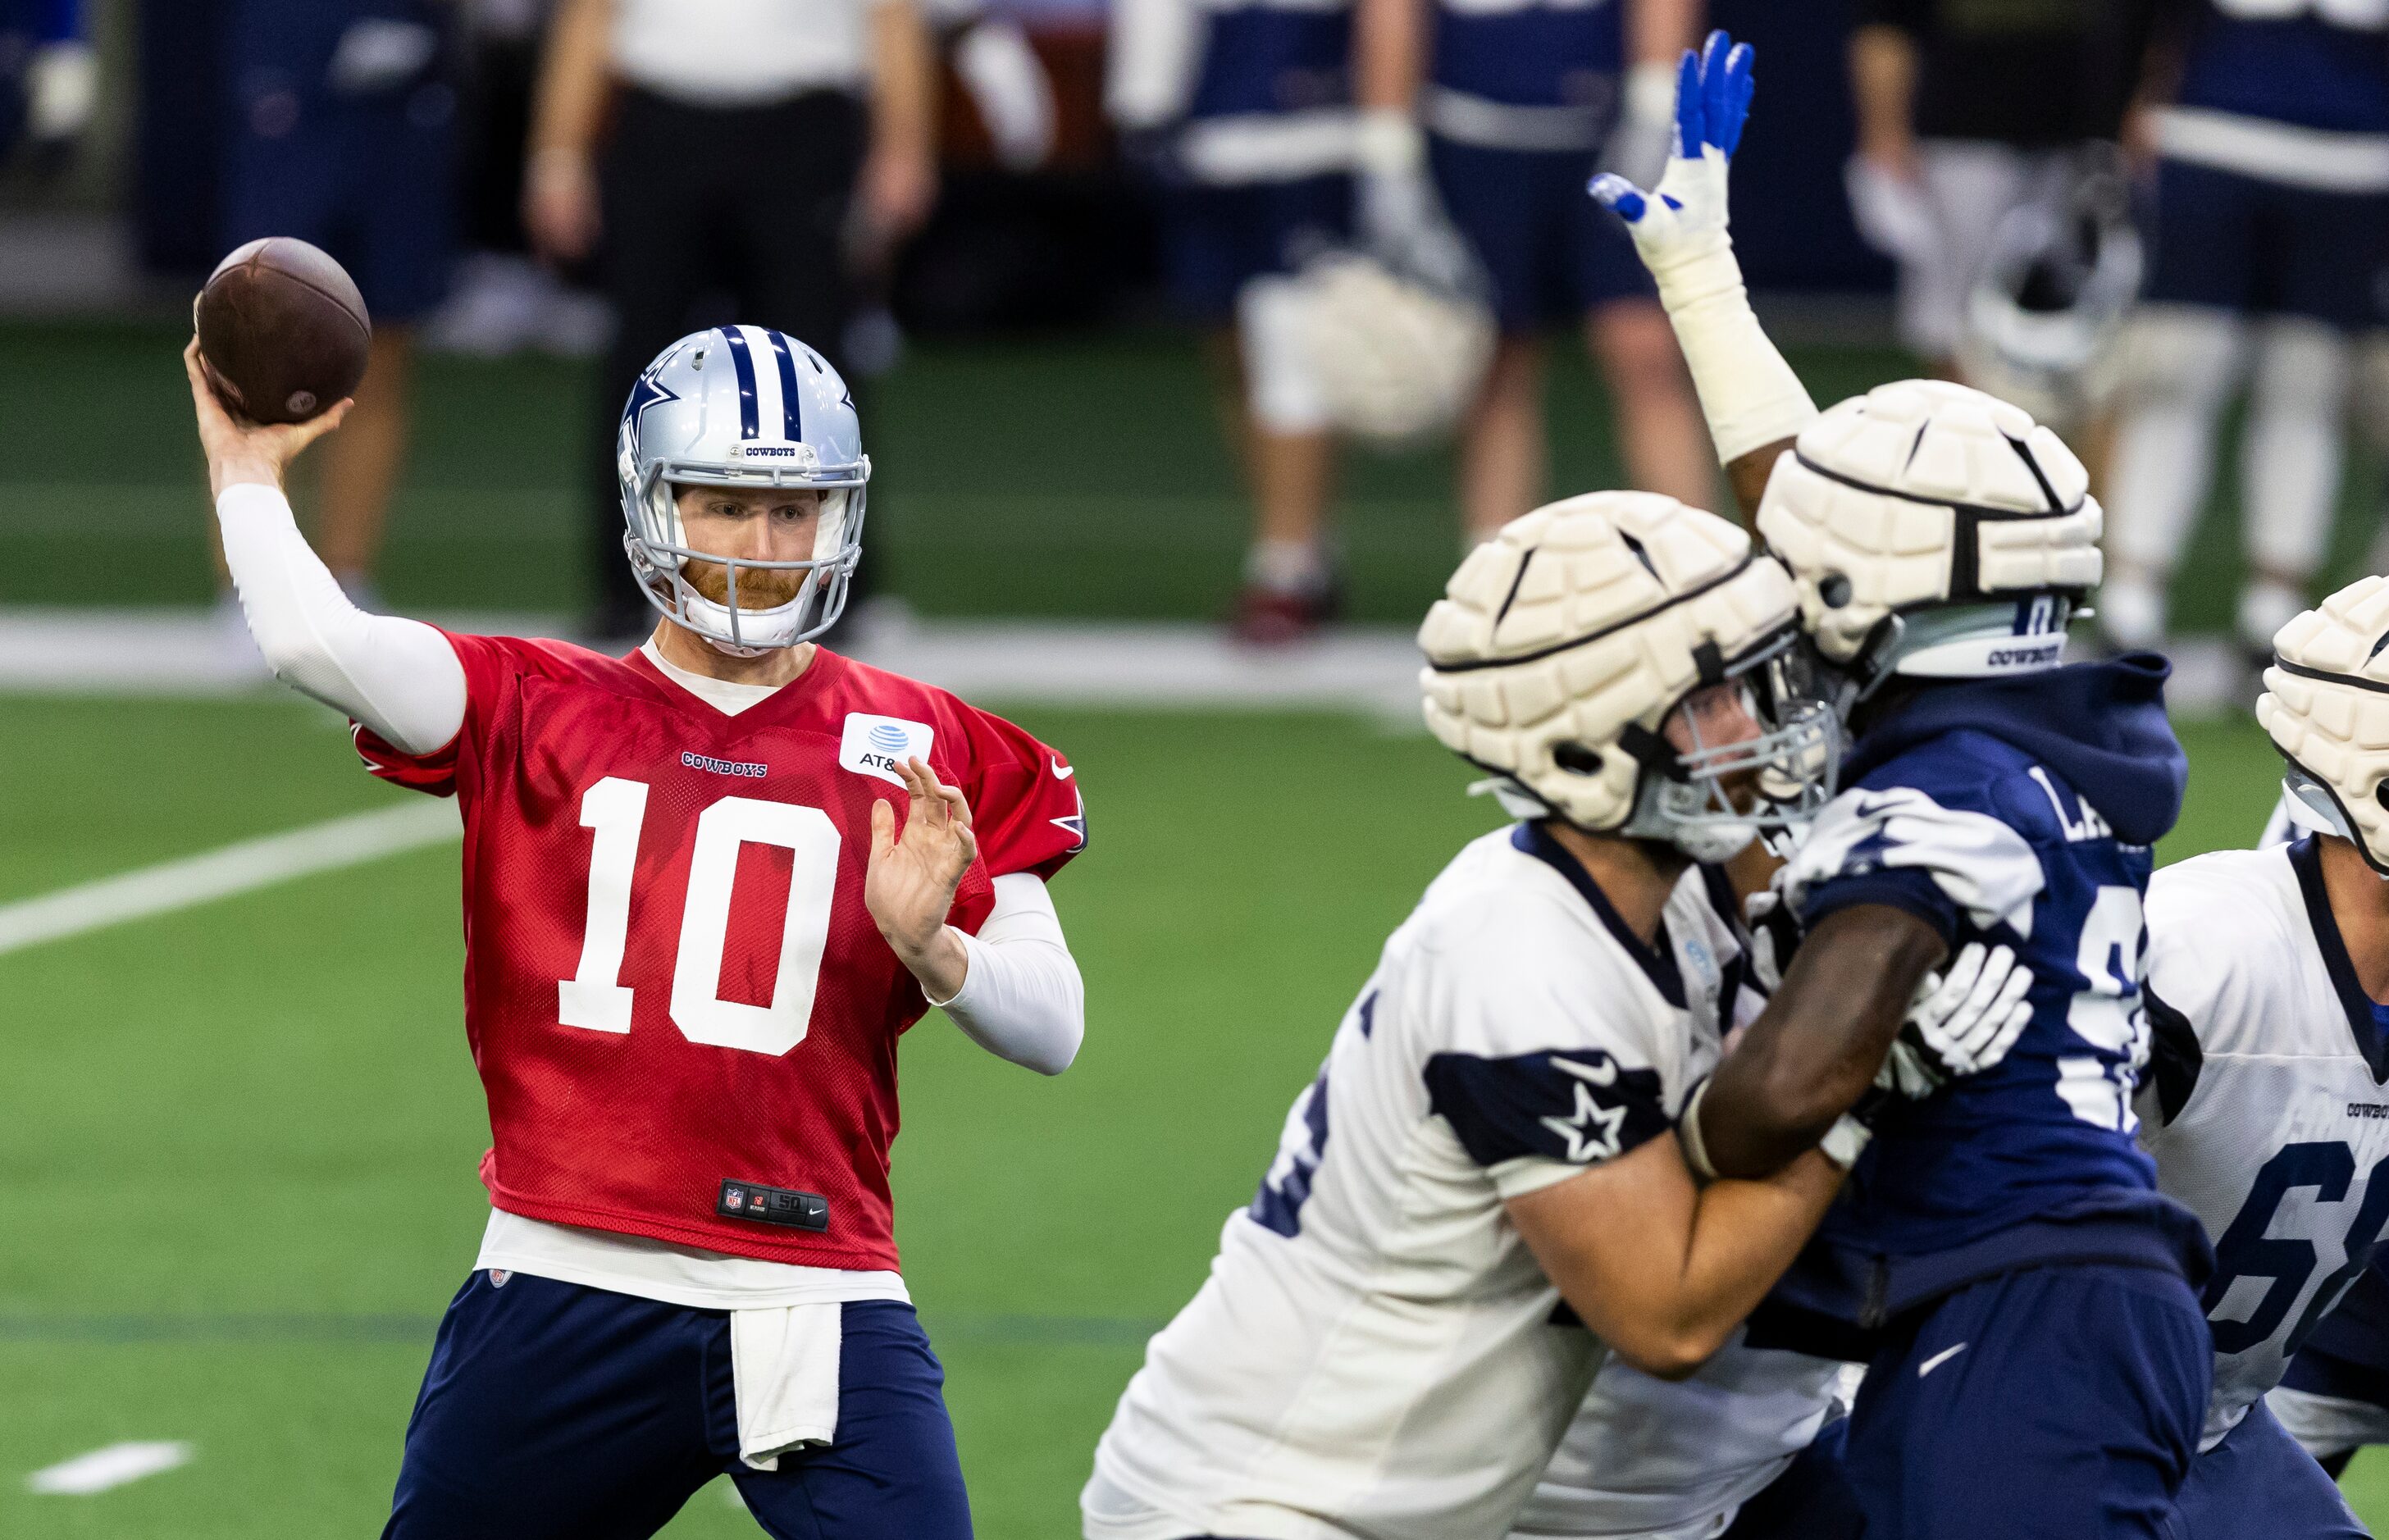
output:
[[[2389,876],[2389,578],[2363,578],[2272,637],[2255,719],[2289,759],[2293,817]]]

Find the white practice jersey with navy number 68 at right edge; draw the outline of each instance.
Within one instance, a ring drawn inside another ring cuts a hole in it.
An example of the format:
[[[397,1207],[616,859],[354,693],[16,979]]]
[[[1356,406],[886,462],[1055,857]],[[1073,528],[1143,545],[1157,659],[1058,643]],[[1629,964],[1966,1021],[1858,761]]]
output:
[[[2148,886],[2141,1144],[2215,1239],[2212,1449],[2372,1258],[2389,1222],[2389,1034],[2356,981],[2313,838]]]

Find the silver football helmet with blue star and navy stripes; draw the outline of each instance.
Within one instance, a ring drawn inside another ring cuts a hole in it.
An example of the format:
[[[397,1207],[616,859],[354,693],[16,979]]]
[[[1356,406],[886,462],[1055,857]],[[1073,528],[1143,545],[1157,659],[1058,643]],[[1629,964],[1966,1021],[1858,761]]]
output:
[[[669,621],[753,657],[829,630],[862,556],[872,461],[839,370],[786,332],[714,327],[664,349],[631,387],[614,439],[624,549],[640,590]],[[748,561],[688,547],[681,487],[812,487],[822,523],[805,561]],[[729,568],[729,604],[698,592],[688,561]],[[741,609],[741,573],[805,573],[796,597]]]

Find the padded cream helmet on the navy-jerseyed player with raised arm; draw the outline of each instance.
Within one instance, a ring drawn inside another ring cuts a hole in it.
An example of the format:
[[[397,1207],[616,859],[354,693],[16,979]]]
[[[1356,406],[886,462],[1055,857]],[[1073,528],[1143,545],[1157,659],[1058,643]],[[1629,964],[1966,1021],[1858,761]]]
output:
[[[1818,415],[1758,504],[1758,532],[1851,700],[1892,673],[2055,669],[2100,580],[2100,523],[2090,475],[2055,432],[1942,380]]]

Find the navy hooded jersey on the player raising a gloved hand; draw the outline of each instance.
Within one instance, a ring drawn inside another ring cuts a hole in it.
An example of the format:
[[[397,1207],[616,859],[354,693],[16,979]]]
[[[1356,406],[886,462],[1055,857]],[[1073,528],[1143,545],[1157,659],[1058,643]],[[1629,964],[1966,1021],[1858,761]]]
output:
[[[1859,740],[1854,786],[1787,871],[1804,924],[1892,905],[1952,955],[2004,943],[2033,969],[2033,1017],[1997,1067],[1883,1110],[1787,1301],[1873,1325],[2047,1261],[2203,1275],[2131,1105],[2150,845],[2186,778],[2164,678],[2136,657],[1937,685]]]

